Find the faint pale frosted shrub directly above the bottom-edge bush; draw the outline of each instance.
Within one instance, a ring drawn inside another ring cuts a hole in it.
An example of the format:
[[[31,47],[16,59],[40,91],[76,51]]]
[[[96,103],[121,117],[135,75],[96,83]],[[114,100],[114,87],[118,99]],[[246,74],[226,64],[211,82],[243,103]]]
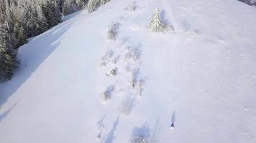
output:
[[[122,114],[127,114],[128,115],[132,112],[133,106],[134,106],[134,99],[132,99],[132,97],[127,97],[122,102],[121,107],[119,107],[119,111]]]

